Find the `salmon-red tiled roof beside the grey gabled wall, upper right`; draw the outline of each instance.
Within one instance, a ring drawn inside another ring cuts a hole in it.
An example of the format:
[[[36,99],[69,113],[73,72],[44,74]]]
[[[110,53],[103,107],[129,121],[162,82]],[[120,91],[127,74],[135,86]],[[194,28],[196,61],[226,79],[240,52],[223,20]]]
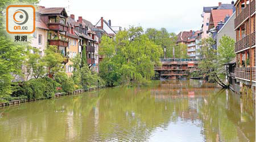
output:
[[[231,16],[233,14],[232,9],[214,9],[211,12],[210,22],[214,23],[214,27],[217,26],[221,20],[224,22],[226,15]],[[213,21],[212,21],[213,20]]]

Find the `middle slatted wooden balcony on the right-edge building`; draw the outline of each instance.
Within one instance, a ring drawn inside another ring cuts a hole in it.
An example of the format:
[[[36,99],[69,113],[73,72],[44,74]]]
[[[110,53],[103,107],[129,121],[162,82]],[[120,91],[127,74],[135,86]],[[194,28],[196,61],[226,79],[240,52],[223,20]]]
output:
[[[241,51],[243,49],[250,47],[250,35],[243,37],[241,40],[237,41],[235,44],[235,52]],[[255,45],[255,32],[251,34],[251,47]]]

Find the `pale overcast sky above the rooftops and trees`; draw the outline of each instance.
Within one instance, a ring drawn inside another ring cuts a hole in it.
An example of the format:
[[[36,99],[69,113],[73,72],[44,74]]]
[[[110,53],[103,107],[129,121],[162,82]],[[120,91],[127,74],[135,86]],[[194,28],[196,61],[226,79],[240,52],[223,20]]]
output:
[[[112,26],[142,26],[166,28],[169,32],[200,30],[204,6],[232,0],[40,0],[40,6],[65,7],[68,15],[75,14],[96,24],[101,16],[111,19]],[[69,6],[69,8],[68,8]]]

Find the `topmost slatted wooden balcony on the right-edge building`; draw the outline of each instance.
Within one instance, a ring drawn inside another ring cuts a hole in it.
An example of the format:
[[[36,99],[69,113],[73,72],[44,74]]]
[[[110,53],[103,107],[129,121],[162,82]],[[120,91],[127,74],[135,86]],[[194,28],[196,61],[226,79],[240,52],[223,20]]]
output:
[[[252,15],[255,12],[255,0],[251,1],[250,5],[251,7],[247,5],[245,9],[243,9],[241,13],[234,20],[235,28],[237,28],[246,18],[248,18],[250,15]],[[250,8],[251,8],[251,13],[249,13]]]

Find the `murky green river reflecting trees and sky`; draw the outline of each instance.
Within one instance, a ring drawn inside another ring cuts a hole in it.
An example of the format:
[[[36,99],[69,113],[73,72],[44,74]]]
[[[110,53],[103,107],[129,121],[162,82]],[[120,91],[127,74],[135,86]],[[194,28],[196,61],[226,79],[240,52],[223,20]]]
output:
[[[203,81],[152,81],[0,108],[0,141],[255,141],[255,107]]]

